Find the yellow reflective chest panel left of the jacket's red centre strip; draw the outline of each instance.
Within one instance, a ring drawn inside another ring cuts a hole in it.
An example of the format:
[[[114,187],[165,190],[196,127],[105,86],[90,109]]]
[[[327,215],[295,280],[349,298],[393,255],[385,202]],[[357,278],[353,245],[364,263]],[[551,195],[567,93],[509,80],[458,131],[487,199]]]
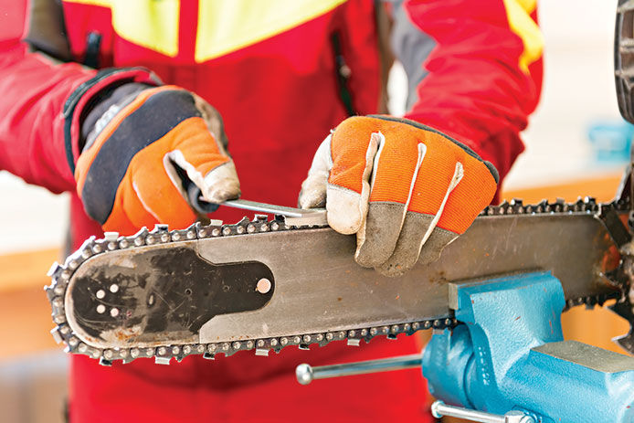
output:
[[[122,38],[174,58],[178,53],[180,0],[66,0],[110,7],[112,26]]]

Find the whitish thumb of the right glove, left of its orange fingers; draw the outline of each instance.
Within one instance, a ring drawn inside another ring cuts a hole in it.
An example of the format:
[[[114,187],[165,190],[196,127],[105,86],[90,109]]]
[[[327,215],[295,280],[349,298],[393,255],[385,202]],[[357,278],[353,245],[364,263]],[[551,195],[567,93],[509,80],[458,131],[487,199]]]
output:
[[[301,183],[298,199],[298,204],[301,208],[326,206],[328,176],[330,176],[330,171],[333,169],[332,139],[333,135],[328,135],[319,145],[314,157],[312,157],[311,169],[309,169],[308,176],[304,182]]]

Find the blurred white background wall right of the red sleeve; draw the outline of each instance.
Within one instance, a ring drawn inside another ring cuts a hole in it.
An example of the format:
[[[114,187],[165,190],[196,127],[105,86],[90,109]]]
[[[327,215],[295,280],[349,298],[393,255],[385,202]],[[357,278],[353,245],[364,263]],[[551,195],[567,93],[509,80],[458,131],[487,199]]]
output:
[[[539,3],[544,90],[508,188],[615,172],[614,165],[592,160],[586,131],[598,119],[620,121],[613,71],[616,5],[615,0]]]

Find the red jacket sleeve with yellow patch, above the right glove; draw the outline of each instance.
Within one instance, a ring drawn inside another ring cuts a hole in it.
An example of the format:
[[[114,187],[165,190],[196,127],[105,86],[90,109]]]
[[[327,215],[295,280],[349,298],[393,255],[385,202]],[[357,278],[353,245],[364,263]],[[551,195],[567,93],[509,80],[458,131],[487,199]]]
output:
[[[406,117],[468,144],[503,177],[523,152],[520,132],[539,100],[543,39],[531,0],[406,4],[435,41]]]

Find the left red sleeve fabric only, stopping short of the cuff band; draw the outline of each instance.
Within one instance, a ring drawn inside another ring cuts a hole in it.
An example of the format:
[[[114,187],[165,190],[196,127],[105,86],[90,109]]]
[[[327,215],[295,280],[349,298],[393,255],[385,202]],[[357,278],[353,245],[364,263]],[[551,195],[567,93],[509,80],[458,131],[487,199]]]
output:
[[[62,111],[70,93],[96,71],[29,52],[22,41],[28,2],[0,5],[0,169],[56,193],[72,190]]]

